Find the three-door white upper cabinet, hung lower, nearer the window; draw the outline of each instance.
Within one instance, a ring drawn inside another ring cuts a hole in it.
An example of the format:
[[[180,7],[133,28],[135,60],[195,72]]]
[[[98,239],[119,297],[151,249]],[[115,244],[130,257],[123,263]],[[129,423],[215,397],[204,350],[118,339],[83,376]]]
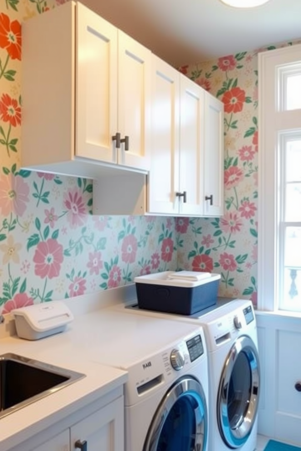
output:
[[[222,215],[222,102],[152,55],[152,106],[148,213]]]

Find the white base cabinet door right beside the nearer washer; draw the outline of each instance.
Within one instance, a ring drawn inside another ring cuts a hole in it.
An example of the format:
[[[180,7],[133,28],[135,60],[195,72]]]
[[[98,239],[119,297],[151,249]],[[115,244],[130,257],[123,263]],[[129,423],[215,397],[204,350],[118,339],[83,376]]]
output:
[[[77,441],[87,442],[89,451],[124,450],[123,396],[111,402],[71,428],[71,451]]]

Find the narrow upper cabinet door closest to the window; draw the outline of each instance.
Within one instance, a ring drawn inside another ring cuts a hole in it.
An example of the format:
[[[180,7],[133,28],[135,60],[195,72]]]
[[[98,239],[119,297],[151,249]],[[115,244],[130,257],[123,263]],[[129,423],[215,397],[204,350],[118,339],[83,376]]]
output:
[[[204,216],[224,209],[224,107],[205,91]]]

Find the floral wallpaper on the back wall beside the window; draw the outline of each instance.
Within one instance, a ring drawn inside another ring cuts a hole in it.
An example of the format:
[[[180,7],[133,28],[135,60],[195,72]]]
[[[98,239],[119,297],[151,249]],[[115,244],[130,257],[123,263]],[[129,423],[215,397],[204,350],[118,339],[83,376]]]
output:
[[[220,295],[252,299],[254,305],[258,229],[257,54],[274,48],[267,46],[180,68],[224,103],[225,211],[221,218],[177,219],[176,230],[181,233],[178,267],[218,272]]]

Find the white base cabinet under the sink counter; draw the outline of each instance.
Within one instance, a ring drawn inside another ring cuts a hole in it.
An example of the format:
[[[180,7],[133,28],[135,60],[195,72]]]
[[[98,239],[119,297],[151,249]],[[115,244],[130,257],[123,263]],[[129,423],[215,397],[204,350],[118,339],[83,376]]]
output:
[[[93,413],[87,411],[84,417],[80,412],[71,415],[9,451],[124,451],[123,396]]]

